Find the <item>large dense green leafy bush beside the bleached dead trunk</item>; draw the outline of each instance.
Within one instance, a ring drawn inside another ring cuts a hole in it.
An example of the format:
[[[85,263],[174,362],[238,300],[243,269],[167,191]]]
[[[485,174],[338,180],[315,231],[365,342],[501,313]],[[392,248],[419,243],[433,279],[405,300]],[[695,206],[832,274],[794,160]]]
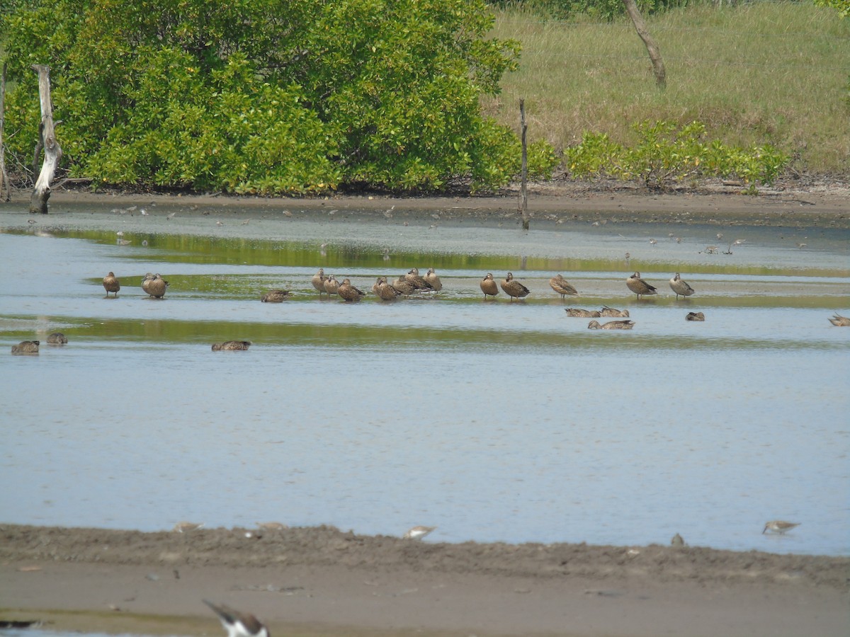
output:
[[[519,141],[486,120],[519,44],[483,0],[26,0],[0,15],[13,154],[51,67],[63,165],[97,184],[295,194],[494,188]],[[548,156],[547,156],[548,153]],[[554,166],[539,148],[540,174]]]

